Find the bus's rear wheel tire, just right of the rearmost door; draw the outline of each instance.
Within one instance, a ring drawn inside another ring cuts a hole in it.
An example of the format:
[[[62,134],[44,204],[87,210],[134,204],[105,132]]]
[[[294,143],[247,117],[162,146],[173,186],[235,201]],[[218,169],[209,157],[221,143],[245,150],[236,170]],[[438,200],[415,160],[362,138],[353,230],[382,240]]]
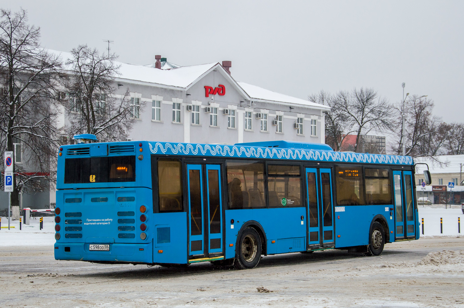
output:
[[[240,234],[234,267],[237,270],[252,269],[261,258],[261,239],[253,227],[246,227]]]

